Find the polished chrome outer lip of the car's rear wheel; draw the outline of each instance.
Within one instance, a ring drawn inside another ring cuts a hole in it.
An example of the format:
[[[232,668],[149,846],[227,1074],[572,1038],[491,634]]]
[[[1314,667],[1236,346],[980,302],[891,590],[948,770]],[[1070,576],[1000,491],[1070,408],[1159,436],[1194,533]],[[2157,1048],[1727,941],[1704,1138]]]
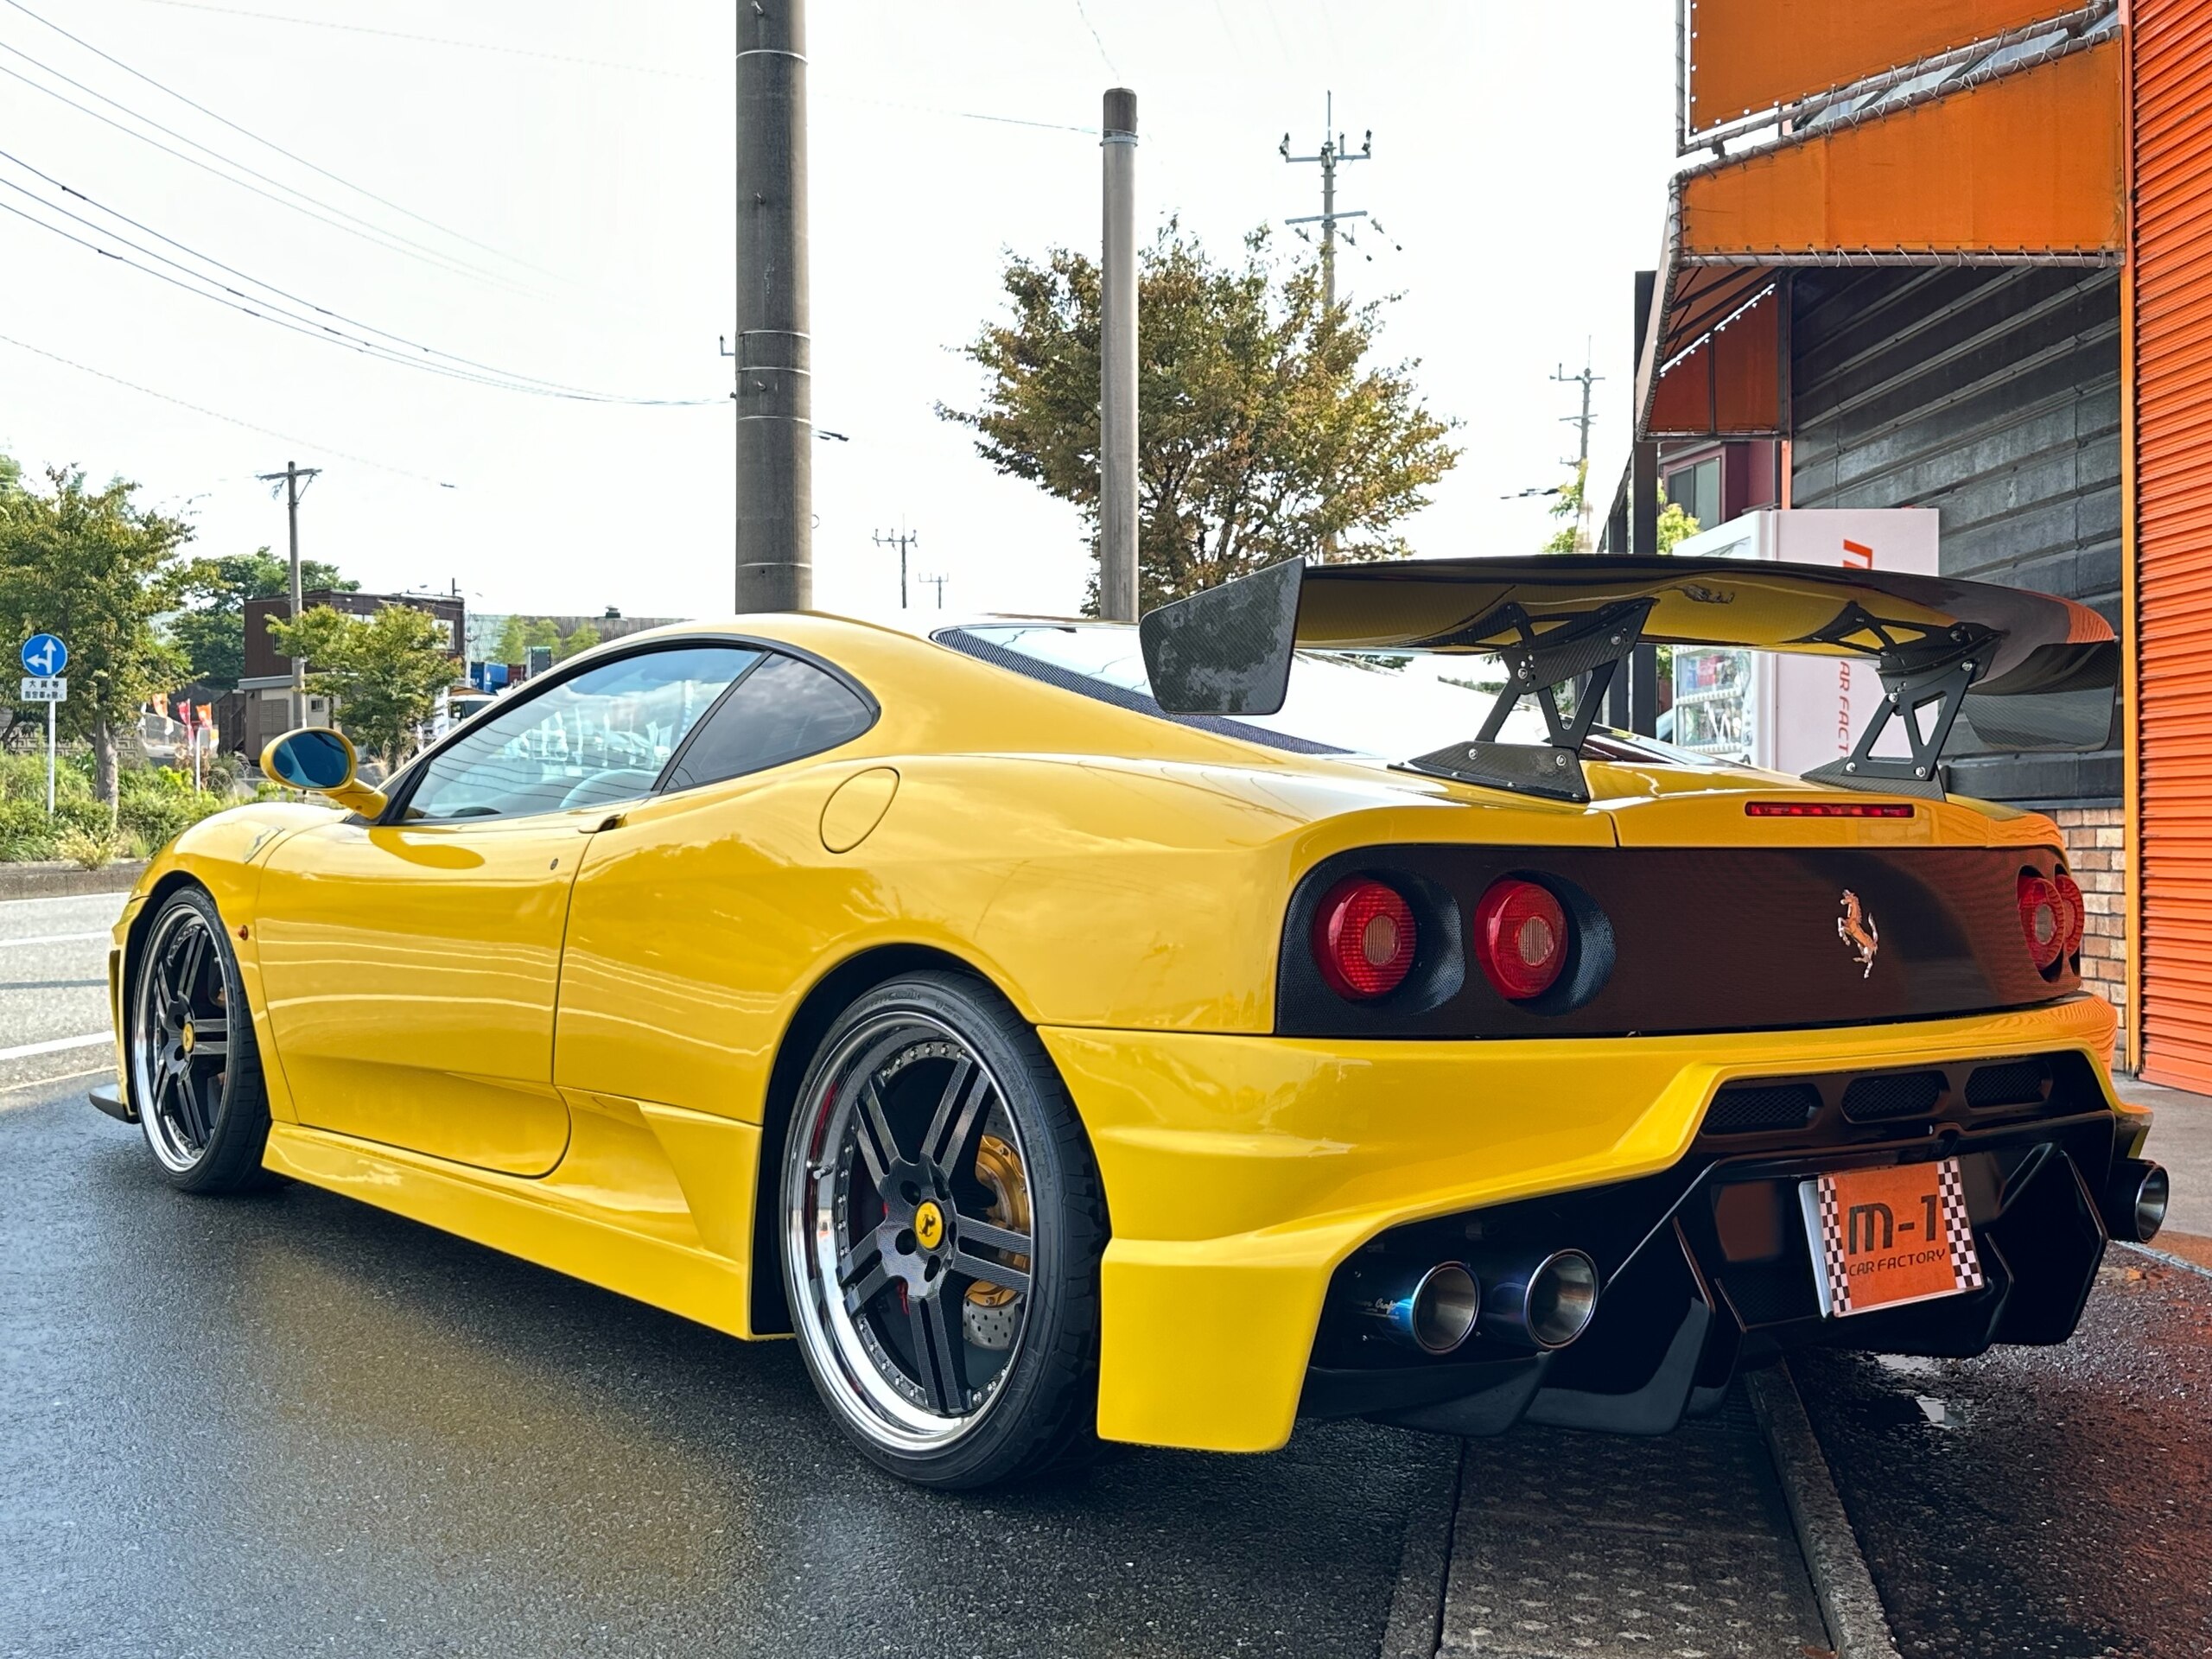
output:
[[[841,1179],[841,1170],[825,1148],[836,1146],[838,1130],[852,1117],[856,1091],[847,1084],[876,1075],[889,1057],[918,1042],[953,1046],[1006,1106],[1006,1088],[998,1071],[951,1024],[920,1009],[885,1009],[847,1031],[814,1071],[814,1088],[799,1102],[799,1117],[783,1161],[783,1248],[785,1261],[792,1263],[792,1281],[796,1281],[792,1327],[816,1376],[830,1385],[823,1391],[838,1413],[865,1440],[900,1453],[945,1451],[982,1427],[1020,1363],[1031,1310],[1031,1296],[1024,1294],[1020,1323],[1004,1349],[1004,1360],[995,1376],[971,1394],[975,1405],[960,1416],[940,1413],[896,1389],[874,1356],[880,1338],[845,1310],[838,1272],[838,1206],[847,1181]],[[1006,1106],[1004,1117],[1013,1135],[1013,1152],[1026,1170],[1022,1126],[1013,1119],[1011,1106]],[[849,1177],[849,1166],[843,1175]],[[929,1199],[942,1201],[947,1225],[958,1230],[960,1221],[949,1192],[925,1192],[925,1201]],[[1040,1265],[1037,1248],[1035,1212],[1031,1212],[1031,1283]]]

